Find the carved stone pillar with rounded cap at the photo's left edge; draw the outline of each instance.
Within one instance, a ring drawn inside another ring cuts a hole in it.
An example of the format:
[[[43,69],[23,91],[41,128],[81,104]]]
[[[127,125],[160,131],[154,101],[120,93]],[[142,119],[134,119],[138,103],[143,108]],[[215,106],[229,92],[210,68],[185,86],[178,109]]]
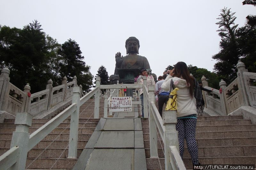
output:
[[[5,110],[4,108],[4,101],[9,95],[8,88],[9,88],[9,81],[10,81],[10,70],[6,66],[1,70],[0,75],[0,110]]]

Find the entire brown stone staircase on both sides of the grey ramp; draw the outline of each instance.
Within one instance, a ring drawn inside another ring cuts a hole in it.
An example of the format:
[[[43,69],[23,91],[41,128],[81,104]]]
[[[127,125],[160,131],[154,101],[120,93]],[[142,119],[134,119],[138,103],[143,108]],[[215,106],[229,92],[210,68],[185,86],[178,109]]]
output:
[[[104,101],[101,99],[100,118],[104,115],[103,110]],[[80,107],[78,157],[100,120],[93,118],[93,112],[93,99],[88,100]],[[29,132],[34,132],[49,120],[50,119],[33,119],[32,127],[29,129]],[[66,119],[47,135],[44,140],[39,142],[28,152],[26,167],[38,157],[28,169],[73,168],[77,159],[68,159],[69,122],[70,118]],[[141,123],[147,169],[164,169],[164,152],[161,147],[162,144],[164,148],[164,144],[161,136],[158,134],[159,159],[150,158],[148,119],[141,119]],[[13,131],[15,131],[14,119],[6,119],[4,123],[0,124],[0,155],[10,149]],[[55,138],[56,140],[54,140]],[[242,116],[198,117],[196,140],[201,164],[256,164],[256,125],[252,124],[251,120],[244,120]],[[184,163],[186,168],[191,169],[192,163],[186,147],[185,144]],[[41,152],[43,153],[40,155]]]

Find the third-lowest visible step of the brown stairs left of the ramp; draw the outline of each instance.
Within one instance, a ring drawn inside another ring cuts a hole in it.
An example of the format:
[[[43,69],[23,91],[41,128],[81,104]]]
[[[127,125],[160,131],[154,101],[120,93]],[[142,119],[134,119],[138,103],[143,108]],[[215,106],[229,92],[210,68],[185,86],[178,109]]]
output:
[[[88,140],[78,140],[77,148],[84,148]],[[34,148],[66,148],[69,144],[69,140],[42,140]],[[0,139],[0,148],[9,148],[11,146],[11,140]]]

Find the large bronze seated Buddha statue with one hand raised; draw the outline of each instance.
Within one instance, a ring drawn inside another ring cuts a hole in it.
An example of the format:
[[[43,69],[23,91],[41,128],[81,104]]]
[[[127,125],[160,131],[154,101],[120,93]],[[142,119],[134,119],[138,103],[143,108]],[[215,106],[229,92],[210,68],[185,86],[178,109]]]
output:
[[[134,77],[139,74],[140,68],[146,68],[151,72],[148,59],[139,54],[140,41],[136,37],[129,37],[125,41],[126,56],[120,52],[116,53],[116,68],[114,75],[109,77],[110,81],[120,78],[120,83],[134,83]],[[113,82],[113,81],[112,81]]]

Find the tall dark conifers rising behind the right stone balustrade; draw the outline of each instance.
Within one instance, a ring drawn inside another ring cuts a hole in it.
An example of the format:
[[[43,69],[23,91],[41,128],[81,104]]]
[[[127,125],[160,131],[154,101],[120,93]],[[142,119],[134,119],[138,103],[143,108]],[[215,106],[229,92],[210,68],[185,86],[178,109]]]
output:
[[[243,4],[255,6],[255,0],[245,0]],[[213,55],[217,60],[214,71],[224,79],[227,84],[236,77],[236,64],[238,60],[245,63],[246,68],[251,72],[256,72],[256,16],[248,15],[244,26],[238,28],[235,24],[235,12],[224,8],[221,10],[219,22],[220,52]]]

